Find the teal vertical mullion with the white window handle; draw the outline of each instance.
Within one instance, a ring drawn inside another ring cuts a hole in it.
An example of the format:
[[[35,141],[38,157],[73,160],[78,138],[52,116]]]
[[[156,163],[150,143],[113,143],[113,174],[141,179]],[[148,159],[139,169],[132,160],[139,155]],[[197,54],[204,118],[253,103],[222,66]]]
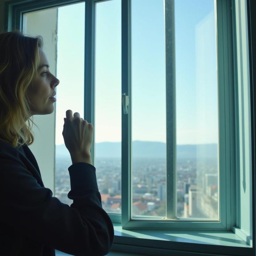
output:
[[[122,111],[122,227],[131,220],[131,0],[122,0],[122,94],[129,97]],[[120,95],[122,97],[122,95]],[[124,98],[122,98],[123,100]]]

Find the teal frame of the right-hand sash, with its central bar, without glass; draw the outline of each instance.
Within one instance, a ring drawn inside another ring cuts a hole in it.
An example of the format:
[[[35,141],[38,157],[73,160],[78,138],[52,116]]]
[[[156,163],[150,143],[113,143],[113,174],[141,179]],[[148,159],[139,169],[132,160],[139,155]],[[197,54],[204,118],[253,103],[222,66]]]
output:
[[[167,1],[165,1],[167,2]],[[168,1],[169,2],[169,1]],[[172,1],[170,1],[172,3]],[[230,64],[225,61],[226,58],[230,63],[233,63],[232,59],[232,12],[231,12],[231,1],[222,1],[217,0],[215,8],[215,14],[217,16],[217,45],[218,47],[218,69],[222,71],[221,74],[218,74],[218,98],[219,98],[219,109],[225,108],[225,112],[220,111],[219,115],[219,155],[220,156],[230,156],[235,159],[234,153],[230,152],[230,137],[231,140],[234,139],[234,125],[229,123],[230,116],[234,115],[234,106],[230,106],[229,97],[234,97],[234,94],[231,94],[229,91],[229,84],[232,84],[233,78],[233,70],[230,68]],[[174,6],[173,4],[168,4],[168,12],[169,16],[172,13]],[[165,16],[168,19],[167,15]],[[173,16],[171,19],[168,19],[168,24],[171,25],[166,28],[166,30],[173,31]],[[170,23],[169,23],[170,22]],[[131,45],[130,45],[130,24],[131,24],[131,0],[122,0],[122,94],[131,95]],[[165,22],[167,24],[167,22]],[[230,28],[230,29],[228,29]],[[225,30],[225,31],[224,31]],[[224,36],[223,36],[224,35]],[[225,36],[226,35],[226,36]],[[174,41],[172,36],[166,35],[167,40],[171,39]],[[128,43],[127,43],[128,42]],[[223,42],[223,44],[219,44],[219,42]],[[175,69],[173,64],[172,56],[174,56],[174,45],[172,43],[168,43],[169,47],[172,47],[168,54],[166,53],[166,98],[173,99],[175,102],[175,86],[173,86],[175,81]],[[220,48],[220,49],[219,49]],[[224,49],[225,48],[225,49]],[[168,62],[169,60],[169,62]],[[174,60],[175,61],[175,60]],[[228,66],[229,64],[229,66]],[[228,70],[228,72],[225,72]],[[168,72],[168,73],[167,73]],[[222,86],[220,86],[222,85]],[[168,88],[171,87],[171,89]],[[162,220],[157,221],[159,218],[150,217],[150,219],[156,219],[156,221],[147,221],[147,220],[131,220],[131,106],[132,99],[129,97],[129,106],[128,106],[128,114],[125,115],[122,113],[122,227],[124,229],[189,229],[189,230],[206,230],[206,229],[214,229],[214,230],[228,230],[231,226],[231,213],[230,209],[230,201],[231,201],[231,193],[230,183],[235,182],[234,179],[231,180],[230,177],[230,162],[226,161],[225,157],[220,158],[220,172],[219,172],[219,191],[221,197],[219,196],[219,205],[220,205],[220,222],[217,221],[193,221],[193,220],[184,220],[184,221],[175,221],[175,220]],[[168,155],[172,155],[173,159],[167,161],[167,173],[166,176],[171,177],[171,179],[167,179],[167,183],[173,185],[173,180],[176,180],[176,172],[172,170],[176,168],[176,140],[175,140],[175,106],[172,103],[168,103],[168,108],[171,109],[169,115],[174,116],[167,120],[167,129],[170,136],[167,136],[166,148],[168,149]],[[168,116],[168,115],[167,115]],[[227,136],[226,136],[227,135]],[[233,155],[231,155],[233,153]],[[234,178],[234,177],[233,177]],[[172,181],[170,181],[172,180]],[[168,184],[166,185],[168,189]],[[174,215],[174,212],[170,210],[170,207],[173,206],[173,201],[176,198],[175,186],[173,189],[168,189],[170,195],[171,204],[167,204],[167,216],[170,214]],[[167,195],[167,193],[166,193]],[[174,200],[173,200],[174,199]],[[232,198],[234,200],[234,198]],[[228,205],[227,205],[228,204]],[[149,219],[148,217],[142,217],[144,219]]]

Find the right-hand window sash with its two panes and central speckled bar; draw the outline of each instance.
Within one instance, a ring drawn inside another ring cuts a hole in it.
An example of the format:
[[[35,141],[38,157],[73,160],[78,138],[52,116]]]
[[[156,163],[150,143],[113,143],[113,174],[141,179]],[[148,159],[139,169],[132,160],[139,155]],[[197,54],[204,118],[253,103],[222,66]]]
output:
[[[131,0],[128,14],[122,227],[226,229],[220,205],[230,194],[219,184],[230,181],[230,127],[219,116],[217,3]]]

